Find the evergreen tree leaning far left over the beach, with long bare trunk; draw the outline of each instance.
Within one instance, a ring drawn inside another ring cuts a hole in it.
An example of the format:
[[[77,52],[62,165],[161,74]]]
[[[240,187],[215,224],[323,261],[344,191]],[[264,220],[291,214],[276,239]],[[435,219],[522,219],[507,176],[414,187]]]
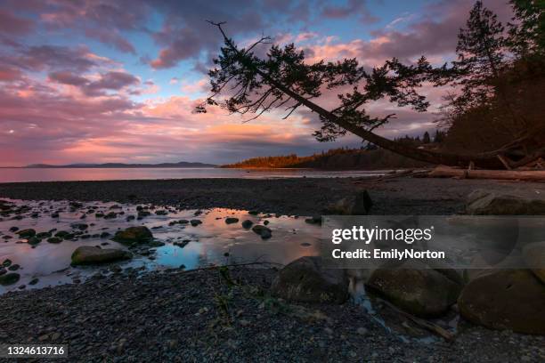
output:
[[[216,68],[208,72],[211,95],[197,107],[197,112],[206,112],[207,106],[220,106],[231,113],[252,115],[250,119],[254,119],[281,109],[286,112],[284,118],[288,118],[305,107],[321,119],[321,129],[314,133],[319,141],[333,141],[338,136],[354,133],[378,147],[431,164],[468,166],[474,163],[499,168],[505,165],[509,150],[517,146],[512,142],[490,152],[460,155],[418,149],[374,133],[395,115],[371,117],[364,108],[371,101],[386,99],[400,107],[424,112],[429,103],[419,93],[421,85],[425,82],[444,85],[445,80],[456,77],[460,69],[448,69],[446,65],[434,68],[425,57],[413,65],[404,65],[397,59],[387,60],[383,66],[370,71],[363,69],[355,59],[311,63],[305,60],[305,52],[297,50],[294,44],[274,45],[267,36],[247,48],[240,47],[225,34],[224,23],[209,22],[221,32],[224,46],[214,60]],[[262,44],[271,46],[260,57],[256,50]],[[321,107],[318,102],[322,94],[335,90],[339,93],[338,106]],[[544,151],[509,162],[522,165],[540,157]]]

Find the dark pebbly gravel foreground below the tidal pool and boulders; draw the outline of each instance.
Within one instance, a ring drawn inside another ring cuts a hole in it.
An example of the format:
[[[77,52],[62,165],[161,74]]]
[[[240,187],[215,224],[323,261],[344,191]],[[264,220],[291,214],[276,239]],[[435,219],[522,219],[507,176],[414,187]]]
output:
[[[270,296],[276,270],[128,270],[0,296],[1,343],[69,344],[70,361],[527,361],[538,335],[468,324],[451,343],[403,342],[354,303]],[[228,276],[228,279],[225,278]],[[231,282],[229,282],[231,281]],[[232,284],[232,286],[231,286]]]

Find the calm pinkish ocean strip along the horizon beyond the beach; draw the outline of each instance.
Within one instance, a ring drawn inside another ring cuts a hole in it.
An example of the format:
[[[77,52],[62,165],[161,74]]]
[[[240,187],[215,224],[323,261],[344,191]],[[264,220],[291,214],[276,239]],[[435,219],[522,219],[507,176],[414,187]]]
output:
[[[376,176],[388,171],[322,171],[312,169],[221,168],[0,168],[0,182],[16,181],[113,181],[192,178],[335,178]]]

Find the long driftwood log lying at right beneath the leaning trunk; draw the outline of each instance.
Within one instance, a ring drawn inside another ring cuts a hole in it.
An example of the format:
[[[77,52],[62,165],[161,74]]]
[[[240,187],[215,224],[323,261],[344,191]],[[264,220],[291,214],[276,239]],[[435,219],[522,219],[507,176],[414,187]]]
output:
[[[497,179],[508,181],[545,181],[545,171],[523,171],[523,170],[482,170],[482,169],[456,169],[449,166],[439,165],[429,174],[429,177],[460,179]]]

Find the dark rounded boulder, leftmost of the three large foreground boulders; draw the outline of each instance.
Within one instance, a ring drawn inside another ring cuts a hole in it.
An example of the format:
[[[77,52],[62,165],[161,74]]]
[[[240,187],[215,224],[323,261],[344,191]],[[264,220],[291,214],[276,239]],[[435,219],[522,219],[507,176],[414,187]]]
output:
[[[290,301],[344,303],[348,298],[348,283],[345,270],[326,269],[321,257],[305,256],[278,272],[271,292]]]

